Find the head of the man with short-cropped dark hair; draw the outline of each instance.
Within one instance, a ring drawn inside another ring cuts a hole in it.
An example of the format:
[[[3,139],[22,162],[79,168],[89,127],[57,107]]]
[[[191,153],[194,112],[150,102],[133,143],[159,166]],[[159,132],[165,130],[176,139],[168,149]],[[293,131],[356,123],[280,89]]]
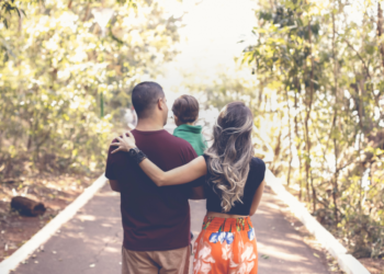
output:
[[[137,117],[146,118],[151,114],[159,99],[165,93],[160,84],[156,82],[140,82],[132,91],[132,104],[135,107]]]

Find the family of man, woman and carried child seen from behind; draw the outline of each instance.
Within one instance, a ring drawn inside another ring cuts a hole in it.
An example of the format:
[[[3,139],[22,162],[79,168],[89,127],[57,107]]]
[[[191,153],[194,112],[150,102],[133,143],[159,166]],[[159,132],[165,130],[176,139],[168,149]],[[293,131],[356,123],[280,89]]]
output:
[[[105,176],[121,193],[123,274],[256,274],[250,220],[264,189],[266,164],[253,157],[253,117],[242,102],[227,104],[207,147],[194,125],[199,102],[176,100],[173,135],[163,129],[167,99],[156,82],[132,91],[137,126],[111,144]],[[206,199],[202,231],[191,250],[189,199]],[[192,254],[191,254],[192,252]]]

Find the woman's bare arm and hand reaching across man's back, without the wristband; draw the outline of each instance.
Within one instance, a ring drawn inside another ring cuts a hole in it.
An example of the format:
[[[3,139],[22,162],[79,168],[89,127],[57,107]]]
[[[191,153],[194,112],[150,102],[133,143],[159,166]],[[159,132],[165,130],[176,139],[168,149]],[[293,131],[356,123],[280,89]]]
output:
[[[117,142],[112,142],[112,147],[118,147],[112,153],[117,151],[129,151],[136,148],[135,137],[132,133],[128,136],[123,134],[123,137],[117,137]],[[143,171],[155,182],[157,186],[185,184],[192,182],[206,174],[206,163],[204,157],[197,157],[193,161],[181,165],[177,169],[163,172],[149,159],[145,159],[139,163]]]

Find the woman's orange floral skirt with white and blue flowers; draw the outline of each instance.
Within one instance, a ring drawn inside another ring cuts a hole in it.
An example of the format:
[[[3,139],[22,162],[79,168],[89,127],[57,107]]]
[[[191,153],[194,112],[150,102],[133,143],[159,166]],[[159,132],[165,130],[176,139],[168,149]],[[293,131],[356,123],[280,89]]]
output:
[[[205,216],[193,254],[193,274],[257,274],[258,253],[250,218]]]

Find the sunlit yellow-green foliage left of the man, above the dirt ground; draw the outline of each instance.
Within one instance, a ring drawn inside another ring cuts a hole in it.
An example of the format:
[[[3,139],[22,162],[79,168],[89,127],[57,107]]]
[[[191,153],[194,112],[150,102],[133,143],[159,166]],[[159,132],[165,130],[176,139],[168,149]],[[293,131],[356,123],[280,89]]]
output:
[[[102,168],[128,90],[177,54],[178,19],[149,0],[18,4],[26,15],[0,24],[0,180]]]

